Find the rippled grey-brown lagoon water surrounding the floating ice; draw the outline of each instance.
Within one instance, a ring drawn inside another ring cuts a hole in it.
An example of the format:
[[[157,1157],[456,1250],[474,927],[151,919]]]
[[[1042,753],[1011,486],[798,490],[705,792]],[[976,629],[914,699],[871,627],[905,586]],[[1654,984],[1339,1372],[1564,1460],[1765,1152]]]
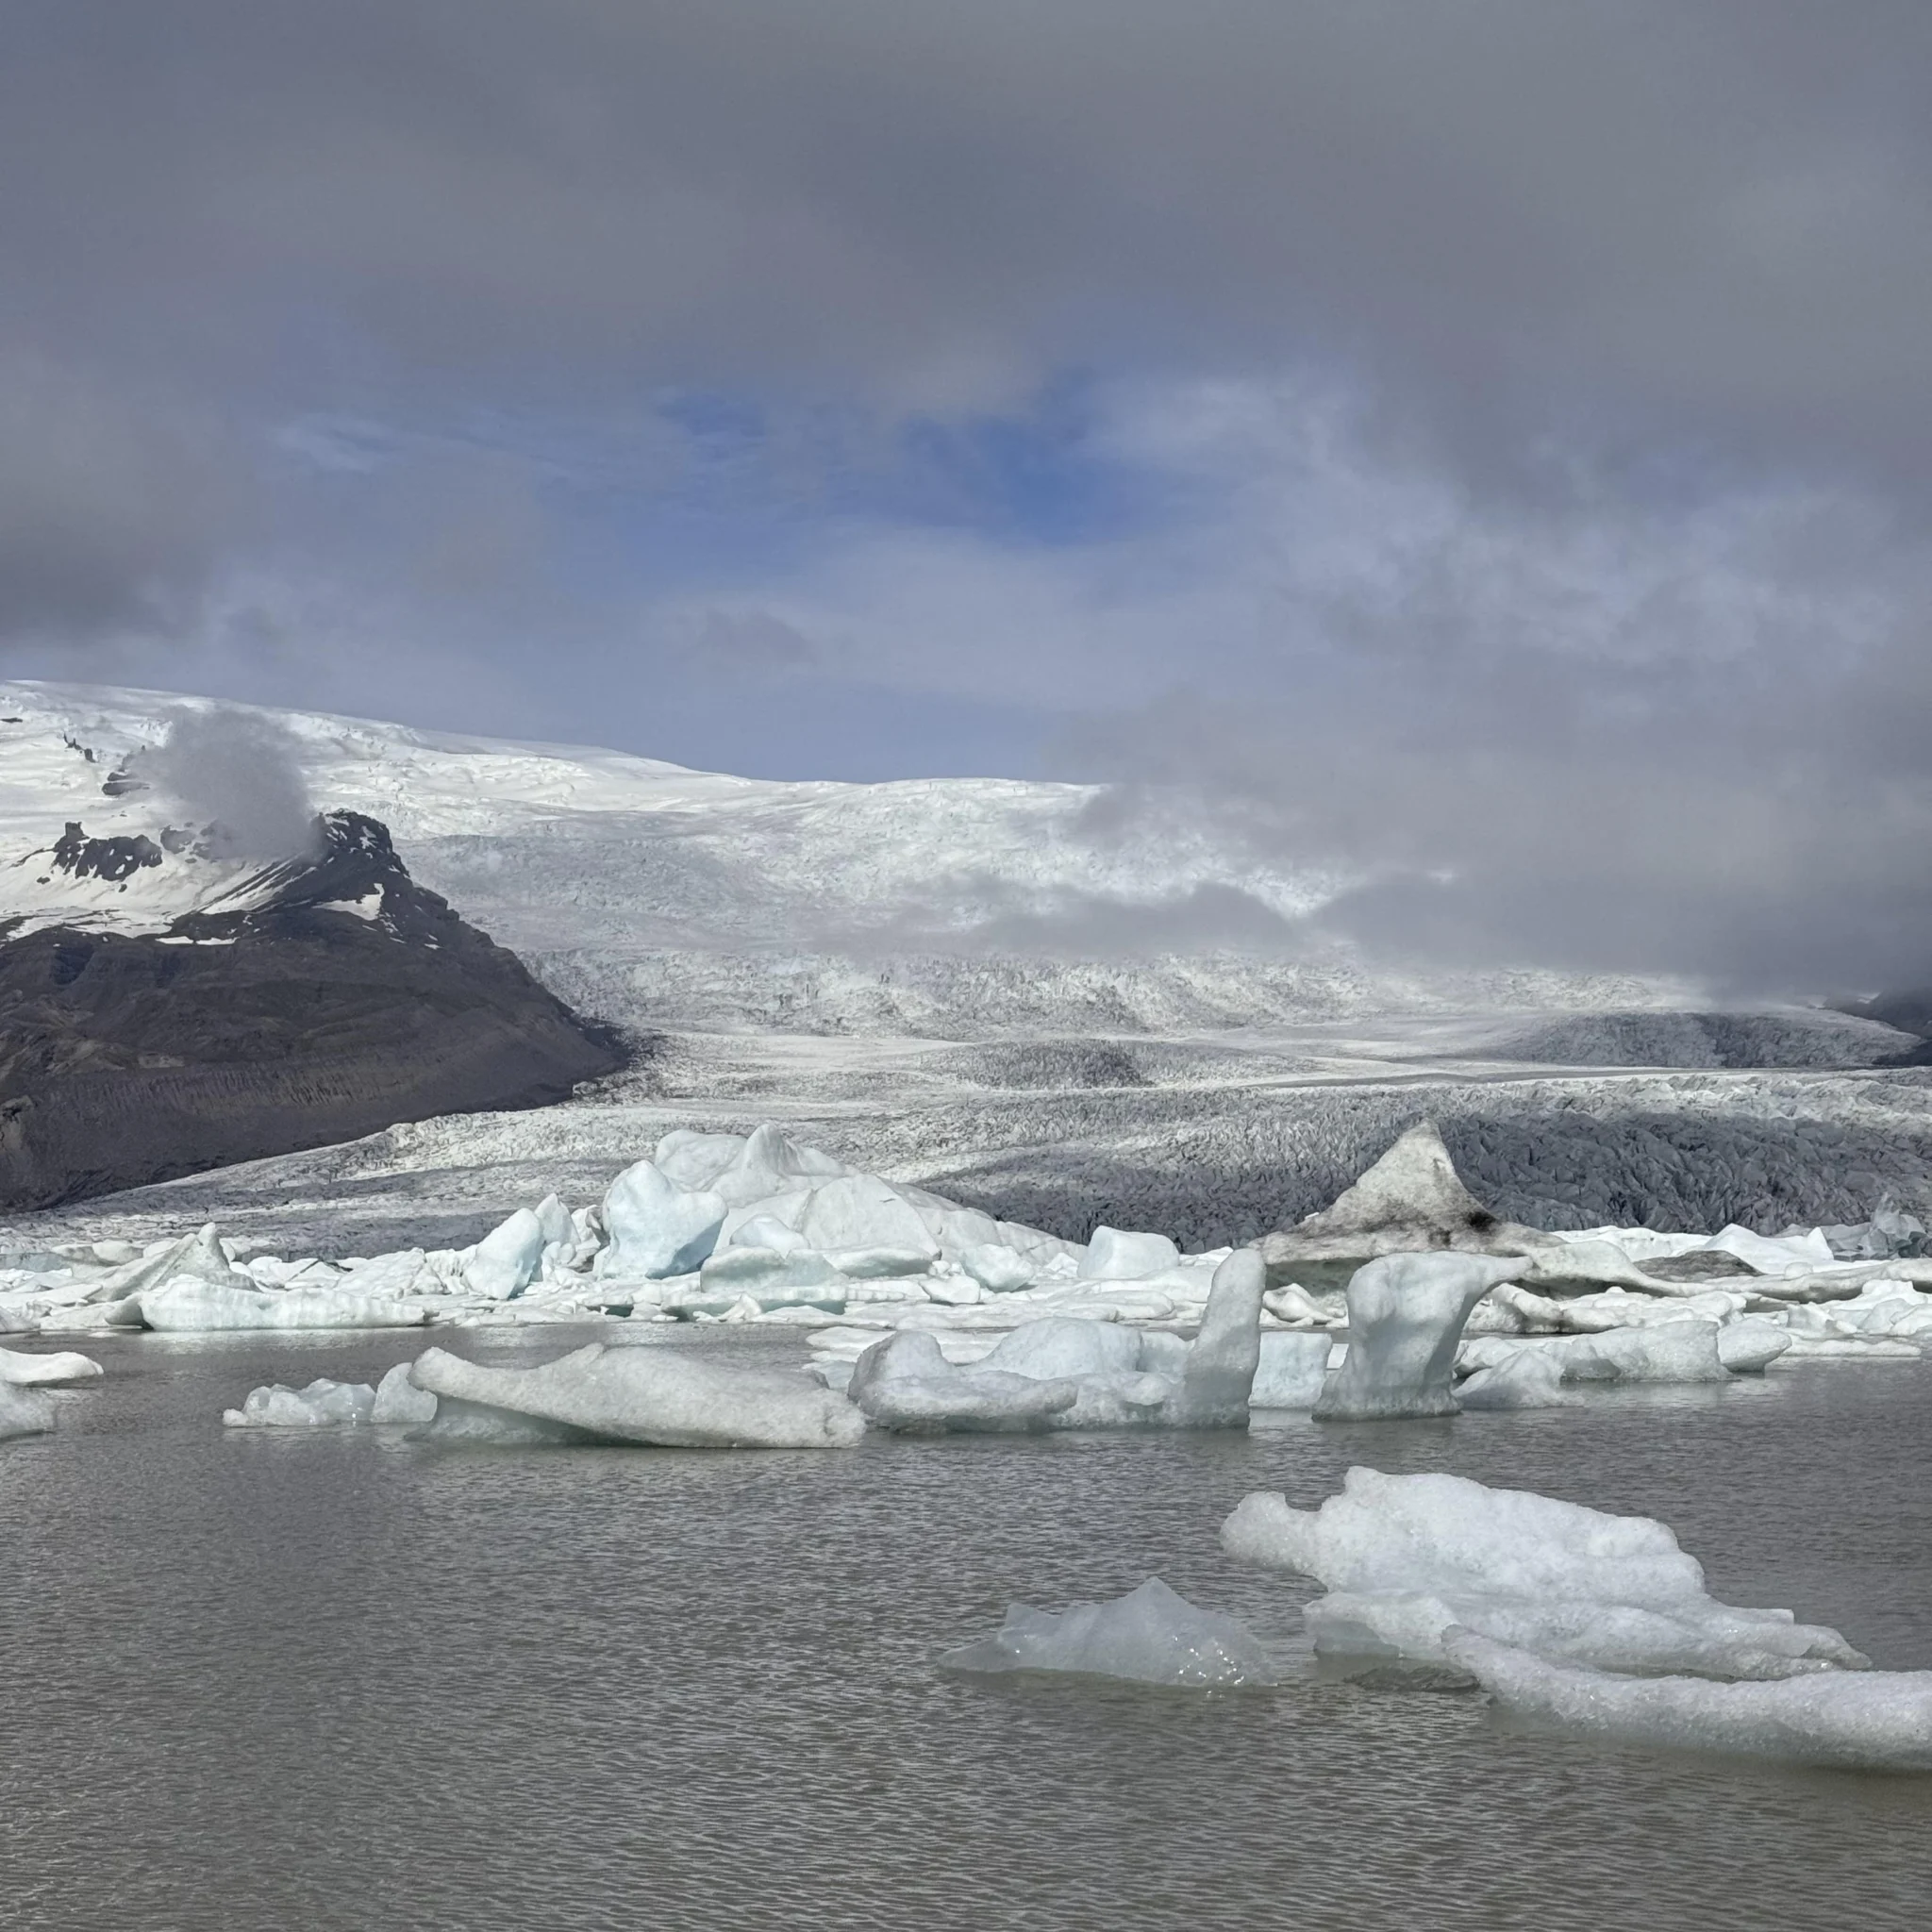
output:
[[[0,1924],[1932,1922],[1932,1777],[1602,1748],[1314,1673],[1190,1696],[935,1669],[1010,1598],[1155,1573],[1296,1650],[1312,1586],[1236,1569],[1215,1530],[1350,1463],[1662,1517],[1719,1596],[1932,1667],[1932,1364],[842,1455],[220,1428],[255,1383],[373,1379],[417,1347],[110,1339],[58,1435],[0,1445]]]

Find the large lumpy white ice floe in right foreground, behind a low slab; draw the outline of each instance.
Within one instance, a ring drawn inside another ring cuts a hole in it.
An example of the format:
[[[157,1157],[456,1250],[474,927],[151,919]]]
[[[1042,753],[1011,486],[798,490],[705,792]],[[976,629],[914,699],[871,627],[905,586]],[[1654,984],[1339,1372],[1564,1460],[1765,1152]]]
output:
[[[1795,1677],[1866,1660],[1787,1609],[1739,1609],[1648,1517],[1611,1517],[1466,1476],[1350,1468],[1341,1495],[1291,1509],[1242,1497],[1221,1524],[1229,1555],[1316,1577],[1316,1648],[1443,1663],[1455,1627],[1561,1663],[1609,1671]]]

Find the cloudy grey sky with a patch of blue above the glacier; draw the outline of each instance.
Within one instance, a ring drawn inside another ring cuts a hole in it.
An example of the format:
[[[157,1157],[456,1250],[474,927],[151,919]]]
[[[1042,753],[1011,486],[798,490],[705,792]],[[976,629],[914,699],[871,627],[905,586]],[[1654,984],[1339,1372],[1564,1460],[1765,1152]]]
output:
[[[1922,0],[0,15],[0,676],[1932,978]]]

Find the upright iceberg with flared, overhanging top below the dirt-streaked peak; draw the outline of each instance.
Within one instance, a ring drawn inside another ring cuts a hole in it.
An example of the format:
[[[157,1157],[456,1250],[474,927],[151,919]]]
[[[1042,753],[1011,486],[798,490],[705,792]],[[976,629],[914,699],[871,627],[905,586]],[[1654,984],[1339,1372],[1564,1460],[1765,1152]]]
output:
[[[1528,1262],[1520,1256],[1391,1254],[1349,1283],[1349,1354],[1329,1374],[1316,1418],[1453,1416],[1451,1376],[1468,1312]]]

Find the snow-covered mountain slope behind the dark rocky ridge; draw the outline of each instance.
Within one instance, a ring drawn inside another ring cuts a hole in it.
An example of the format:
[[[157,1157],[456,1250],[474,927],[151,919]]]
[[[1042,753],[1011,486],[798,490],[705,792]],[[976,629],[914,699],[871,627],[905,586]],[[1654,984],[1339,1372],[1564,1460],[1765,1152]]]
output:
[[[238,856],[249,827],[211,825],[195,773],[155,757],[176,721],[211,709],[0,684],[0,923],[155,931],[269,889]],[[632,1028],[1157,1034],[1696,1001],[1627,976],[1370,970],[1296,927],[1343,877],[1285,866],[1179,798],[1121,810],[1082,784],[752,781],[236,715],[253,728],[232,757],[280,759],[292,769],[265,782],[381,819],[417,879],[580,1010]]]

